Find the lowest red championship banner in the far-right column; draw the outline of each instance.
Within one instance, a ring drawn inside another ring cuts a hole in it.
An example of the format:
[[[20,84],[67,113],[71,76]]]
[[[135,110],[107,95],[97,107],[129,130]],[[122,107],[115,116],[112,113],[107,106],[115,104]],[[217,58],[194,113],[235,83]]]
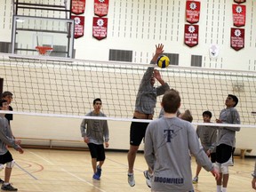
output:
[[[244,48],[244,28],[231,28],[230,46],[236,51]]]

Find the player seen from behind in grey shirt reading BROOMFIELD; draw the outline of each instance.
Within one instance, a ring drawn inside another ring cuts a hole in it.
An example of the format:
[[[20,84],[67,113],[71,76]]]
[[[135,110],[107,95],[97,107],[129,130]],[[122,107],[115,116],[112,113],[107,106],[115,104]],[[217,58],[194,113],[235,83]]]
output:
[[[150,122],[145,135],[144,156],[154,172],[152,191],[194,191],[188,151],[218,179],[219,172],[200,147],[193,125],[176,116],[180,108],[179,92],[165,92],[162,107],[164,117]]]

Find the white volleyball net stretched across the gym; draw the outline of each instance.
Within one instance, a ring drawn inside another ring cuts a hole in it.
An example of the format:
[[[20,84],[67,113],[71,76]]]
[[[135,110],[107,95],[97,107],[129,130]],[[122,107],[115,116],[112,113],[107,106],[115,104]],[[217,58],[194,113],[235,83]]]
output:
[[[152,65],[150,65],[152,67]],[[102,111],[113,120],[132,121],[136,94],[148,64],[73,60],[0,54],[0,78],[4,91],[14,95],[14,112],[26,115],[84,118],[92,101],[102,100]],[[241,124],[255,124],[256,73],[250,71],[158,68],[164,82],[180,92],[180,111],[189,109],[193,123],[203,122],[204,110],[212,121],[225,108],[228,94],[235,94]],[[156,85],[160,85],[156,81]],[[154,118],[160,112],[157,98]]]

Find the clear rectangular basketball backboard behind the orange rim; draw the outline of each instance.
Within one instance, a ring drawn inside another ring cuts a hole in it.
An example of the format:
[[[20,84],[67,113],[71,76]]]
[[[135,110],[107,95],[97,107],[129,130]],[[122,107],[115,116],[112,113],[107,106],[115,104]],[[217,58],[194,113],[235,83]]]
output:
[[[73,58],[74,20],[14,16],[12,53],[38,55],[38,46],[51,47],[49,56]]]

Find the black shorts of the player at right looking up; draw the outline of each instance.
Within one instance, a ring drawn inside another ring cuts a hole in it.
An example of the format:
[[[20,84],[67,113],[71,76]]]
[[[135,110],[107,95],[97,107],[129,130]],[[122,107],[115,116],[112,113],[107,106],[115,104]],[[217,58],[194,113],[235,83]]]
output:
[[[224,164],[228,162],[232,156],[232,146],[225,144],[220,144],[216,147],[216,162],[219,164]]]

